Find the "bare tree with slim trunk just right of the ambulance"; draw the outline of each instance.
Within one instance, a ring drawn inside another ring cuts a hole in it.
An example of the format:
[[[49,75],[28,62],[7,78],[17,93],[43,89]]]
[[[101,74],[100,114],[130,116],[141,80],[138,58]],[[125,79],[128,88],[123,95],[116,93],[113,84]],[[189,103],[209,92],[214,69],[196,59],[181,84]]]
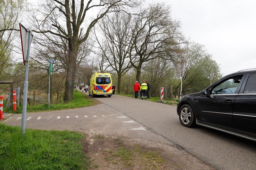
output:
[[[121,77],[131,67],[129,63],[129,52],[131,48],[131,16],[126,13],[115,13],[111,17],[99,23],[103,41],[101,45],[98,40],[99,48],[104,59],[117,73],[117,92],[121,91]],[[104,43],[103,43],[104,44]]]

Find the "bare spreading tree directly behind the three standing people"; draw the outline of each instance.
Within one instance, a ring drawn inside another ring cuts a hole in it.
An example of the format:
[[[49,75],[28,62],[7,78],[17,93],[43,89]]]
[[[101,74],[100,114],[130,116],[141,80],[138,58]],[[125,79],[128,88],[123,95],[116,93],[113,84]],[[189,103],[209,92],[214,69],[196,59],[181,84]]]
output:
[[[157,57],[172,59],[179,44],[183,43],[180,24],[171,19],[170,11],[166,4],[151,4],[135,19],[130,62],[137,70],[137,80],[140,80],[143,63]],[[135,49],[134,54],[132,49]]]

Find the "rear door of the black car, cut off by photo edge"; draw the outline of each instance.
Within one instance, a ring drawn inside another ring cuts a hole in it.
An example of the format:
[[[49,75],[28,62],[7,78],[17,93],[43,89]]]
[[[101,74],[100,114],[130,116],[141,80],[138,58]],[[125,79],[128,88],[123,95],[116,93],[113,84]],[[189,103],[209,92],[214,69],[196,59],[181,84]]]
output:
[[[233,123],[238,130],[256,134],[256,73],[246,80],[235,100]]]

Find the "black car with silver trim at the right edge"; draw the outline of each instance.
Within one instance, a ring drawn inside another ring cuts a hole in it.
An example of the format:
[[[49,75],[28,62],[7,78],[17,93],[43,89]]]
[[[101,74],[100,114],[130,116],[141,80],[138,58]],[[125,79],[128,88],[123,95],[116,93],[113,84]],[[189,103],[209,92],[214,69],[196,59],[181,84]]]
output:
[[[201,125],[256,141],[256,68],[227,75],[183,96],[177,106],[185,127]]]

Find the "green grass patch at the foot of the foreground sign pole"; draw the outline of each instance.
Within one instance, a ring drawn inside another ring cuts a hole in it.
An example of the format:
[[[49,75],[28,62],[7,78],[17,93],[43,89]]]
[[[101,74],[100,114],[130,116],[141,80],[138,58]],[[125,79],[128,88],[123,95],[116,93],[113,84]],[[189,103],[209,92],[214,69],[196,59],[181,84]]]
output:
[[[0,169],[82,170],[91,162],[82,152],[83,136],[73,131],[26,129],[0,124]]]

